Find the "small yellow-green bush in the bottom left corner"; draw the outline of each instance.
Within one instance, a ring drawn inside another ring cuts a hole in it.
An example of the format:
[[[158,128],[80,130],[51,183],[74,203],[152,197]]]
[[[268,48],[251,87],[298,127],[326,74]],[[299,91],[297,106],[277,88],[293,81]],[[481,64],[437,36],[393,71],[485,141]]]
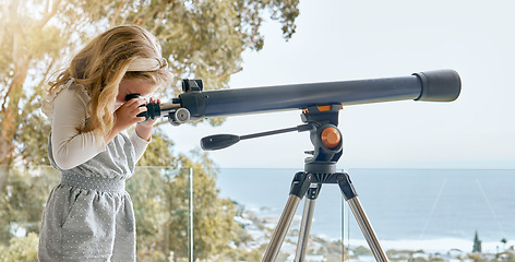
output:
[[[9,247],[0,246],[0,262],[37,261],[38,241],[35,233],[11,239]]]

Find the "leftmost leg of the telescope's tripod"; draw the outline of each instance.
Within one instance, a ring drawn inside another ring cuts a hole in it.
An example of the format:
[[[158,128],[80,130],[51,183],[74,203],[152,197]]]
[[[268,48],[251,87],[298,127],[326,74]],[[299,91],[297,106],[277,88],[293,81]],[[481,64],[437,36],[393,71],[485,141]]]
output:
[[[277,223],[277,227],[274,230],[274,235],[272,235],[272,240],[266,248],[263,262],[275,261],[279,254],[280,246],[285,240],[286,233],[294,219],[299,202],[310,187],[311,178],[312,176],[307,172],[297,172],[295,175],[294,181],[291,182],[288,202],[286,202],[286,206],[280,215],[279,222]]]

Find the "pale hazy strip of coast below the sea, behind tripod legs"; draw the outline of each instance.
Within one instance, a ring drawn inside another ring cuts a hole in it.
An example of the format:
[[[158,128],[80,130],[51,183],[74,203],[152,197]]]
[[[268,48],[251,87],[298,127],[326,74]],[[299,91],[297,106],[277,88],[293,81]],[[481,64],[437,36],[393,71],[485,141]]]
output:
[[[241,248],[250,251],[260,249],[260,247],[263,246],[268,246],[272,238],[272,233],[275,230],[278,217],[279,214],[270,214],[267,212],[260,212],[258,210],[245,210],[243,211],[242,216],[235,217],[235,219],[243,226],[245,233],[249,234],[252,238],[252,241],[248,242],[247,245],[243,245],[244,247]],[[287,237],[280,248],[280,252],[290,254],[290,257],[288,258],[291,260],[294,259],[294,257],[291,255],[295,255],[297,250],[300,223],[301,216],[295,215],[291,225],[288,229]],[[456,259],[464,260],[470,257],[495,258],[496,255],[503,252],[508,252],[512,255],[513,246],[515,246],[514,240],[508,240],[505,243],[502,243],[501,239],[499,241],[481,241],[482,252],[475,253],[472,252],[472,239],[452,237],[427,239],[380,238],[379,241],[383,251],[388,257],[397,258],[399,260],[403,260],[405,258],[421,258],[426,260],[430,260],[431,258],[439,258],[441,261],[455,261]],[[342,239],[342,237],[312,233],[310,234],[308,250],[319,250],[316,252],[316,255],[312,254],[312,257],[310,257],[310,261],[325,261],[325,259],[327,258],[342,258],[343,250],[349,250],[349,261],[375,261],[375,259],[371,254],[367,240],[364,239],[364,237],[362,237],[361,233],[358,231],[355,231],[351,238],[344,236],[344,239]]]

